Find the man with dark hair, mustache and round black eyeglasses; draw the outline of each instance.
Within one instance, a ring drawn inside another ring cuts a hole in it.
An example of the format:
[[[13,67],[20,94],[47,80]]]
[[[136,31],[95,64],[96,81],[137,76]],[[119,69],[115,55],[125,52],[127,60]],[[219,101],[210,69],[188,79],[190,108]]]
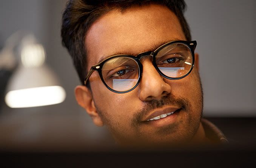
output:
[[[82,86],[76,99],[125,146],[222,144],[202,118],[196,41],[183,0],[71,0],[62,39]],[[97,71],[97,72],[96,72]]]

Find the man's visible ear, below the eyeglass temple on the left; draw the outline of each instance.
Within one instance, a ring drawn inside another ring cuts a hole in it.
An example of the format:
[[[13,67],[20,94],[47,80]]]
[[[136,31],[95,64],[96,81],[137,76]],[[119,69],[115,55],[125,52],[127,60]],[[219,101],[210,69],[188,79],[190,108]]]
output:
[[[103,126],[103,121],[97,113],[93,96],[91,91],[86,86],[77,86],[75,88],[75,95],[77,103],[83,107],[86,112],[91,116],[95,125],[101,127]]]

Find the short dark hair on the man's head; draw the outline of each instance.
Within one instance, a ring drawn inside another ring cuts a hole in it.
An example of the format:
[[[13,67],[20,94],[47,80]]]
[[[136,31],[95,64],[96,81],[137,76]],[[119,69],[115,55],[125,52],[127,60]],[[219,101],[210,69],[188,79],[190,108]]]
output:
[[[191,41],[190,29],[183,15],[186,8],[184,0],[70,0],[67,3],[62,17],[62,43],[73,59],[82,84],[87,73],[85,35],[94,21],[113,9],[123,12],[132,6],[150,3],[167,6],[173,11],[185,37]]]

